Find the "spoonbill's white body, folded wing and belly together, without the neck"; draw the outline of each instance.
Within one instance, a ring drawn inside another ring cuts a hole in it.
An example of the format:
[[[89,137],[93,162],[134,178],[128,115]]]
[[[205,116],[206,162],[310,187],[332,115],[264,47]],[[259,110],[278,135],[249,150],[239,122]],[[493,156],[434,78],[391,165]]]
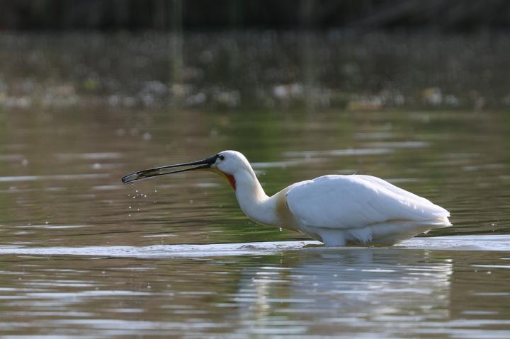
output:
[[[305,233],[331,246],[391,244],[450,225],[443,207],[373,176],[322,176],[290,186],[286,197]]]

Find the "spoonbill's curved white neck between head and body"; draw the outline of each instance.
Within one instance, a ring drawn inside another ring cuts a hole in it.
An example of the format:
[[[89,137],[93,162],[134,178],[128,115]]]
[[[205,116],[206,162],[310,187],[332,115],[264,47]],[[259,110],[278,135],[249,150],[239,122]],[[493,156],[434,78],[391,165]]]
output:
[[[234,175],[236,197],[244,214],[259,224],[279,226],[276,206],[264,192],[252,168],[242,168]]]

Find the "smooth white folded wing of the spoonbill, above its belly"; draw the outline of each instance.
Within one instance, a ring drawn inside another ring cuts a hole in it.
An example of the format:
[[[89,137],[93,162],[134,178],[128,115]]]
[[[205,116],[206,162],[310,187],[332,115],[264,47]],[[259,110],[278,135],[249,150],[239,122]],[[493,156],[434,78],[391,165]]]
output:
[[[353,229],[449,216],[429,200],[372,176],[322,176],[293,185],[286,196],[290,212],[306,226]]]

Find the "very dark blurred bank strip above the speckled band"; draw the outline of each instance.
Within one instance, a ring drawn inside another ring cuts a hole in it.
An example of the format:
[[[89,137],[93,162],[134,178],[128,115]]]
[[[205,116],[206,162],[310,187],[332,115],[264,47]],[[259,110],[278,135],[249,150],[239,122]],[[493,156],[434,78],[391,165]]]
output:
[[[3,30],[507,29],[504,0],[1,0]]]

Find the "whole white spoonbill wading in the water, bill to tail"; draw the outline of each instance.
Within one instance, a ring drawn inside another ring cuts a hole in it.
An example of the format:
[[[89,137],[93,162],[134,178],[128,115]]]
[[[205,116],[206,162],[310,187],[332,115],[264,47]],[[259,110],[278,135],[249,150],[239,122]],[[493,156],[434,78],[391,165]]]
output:
[[[185,168],[175,170],[179,167]],[[242,211],[254,222],[299,231],[326,246],[391,245],[450,226],[450,213],[443,207],[373,176],[321,176],[268,197],[248,160],[237,151],[131,173],[122,180],[132,183],[195,170],[213,171],[226,178]]]

